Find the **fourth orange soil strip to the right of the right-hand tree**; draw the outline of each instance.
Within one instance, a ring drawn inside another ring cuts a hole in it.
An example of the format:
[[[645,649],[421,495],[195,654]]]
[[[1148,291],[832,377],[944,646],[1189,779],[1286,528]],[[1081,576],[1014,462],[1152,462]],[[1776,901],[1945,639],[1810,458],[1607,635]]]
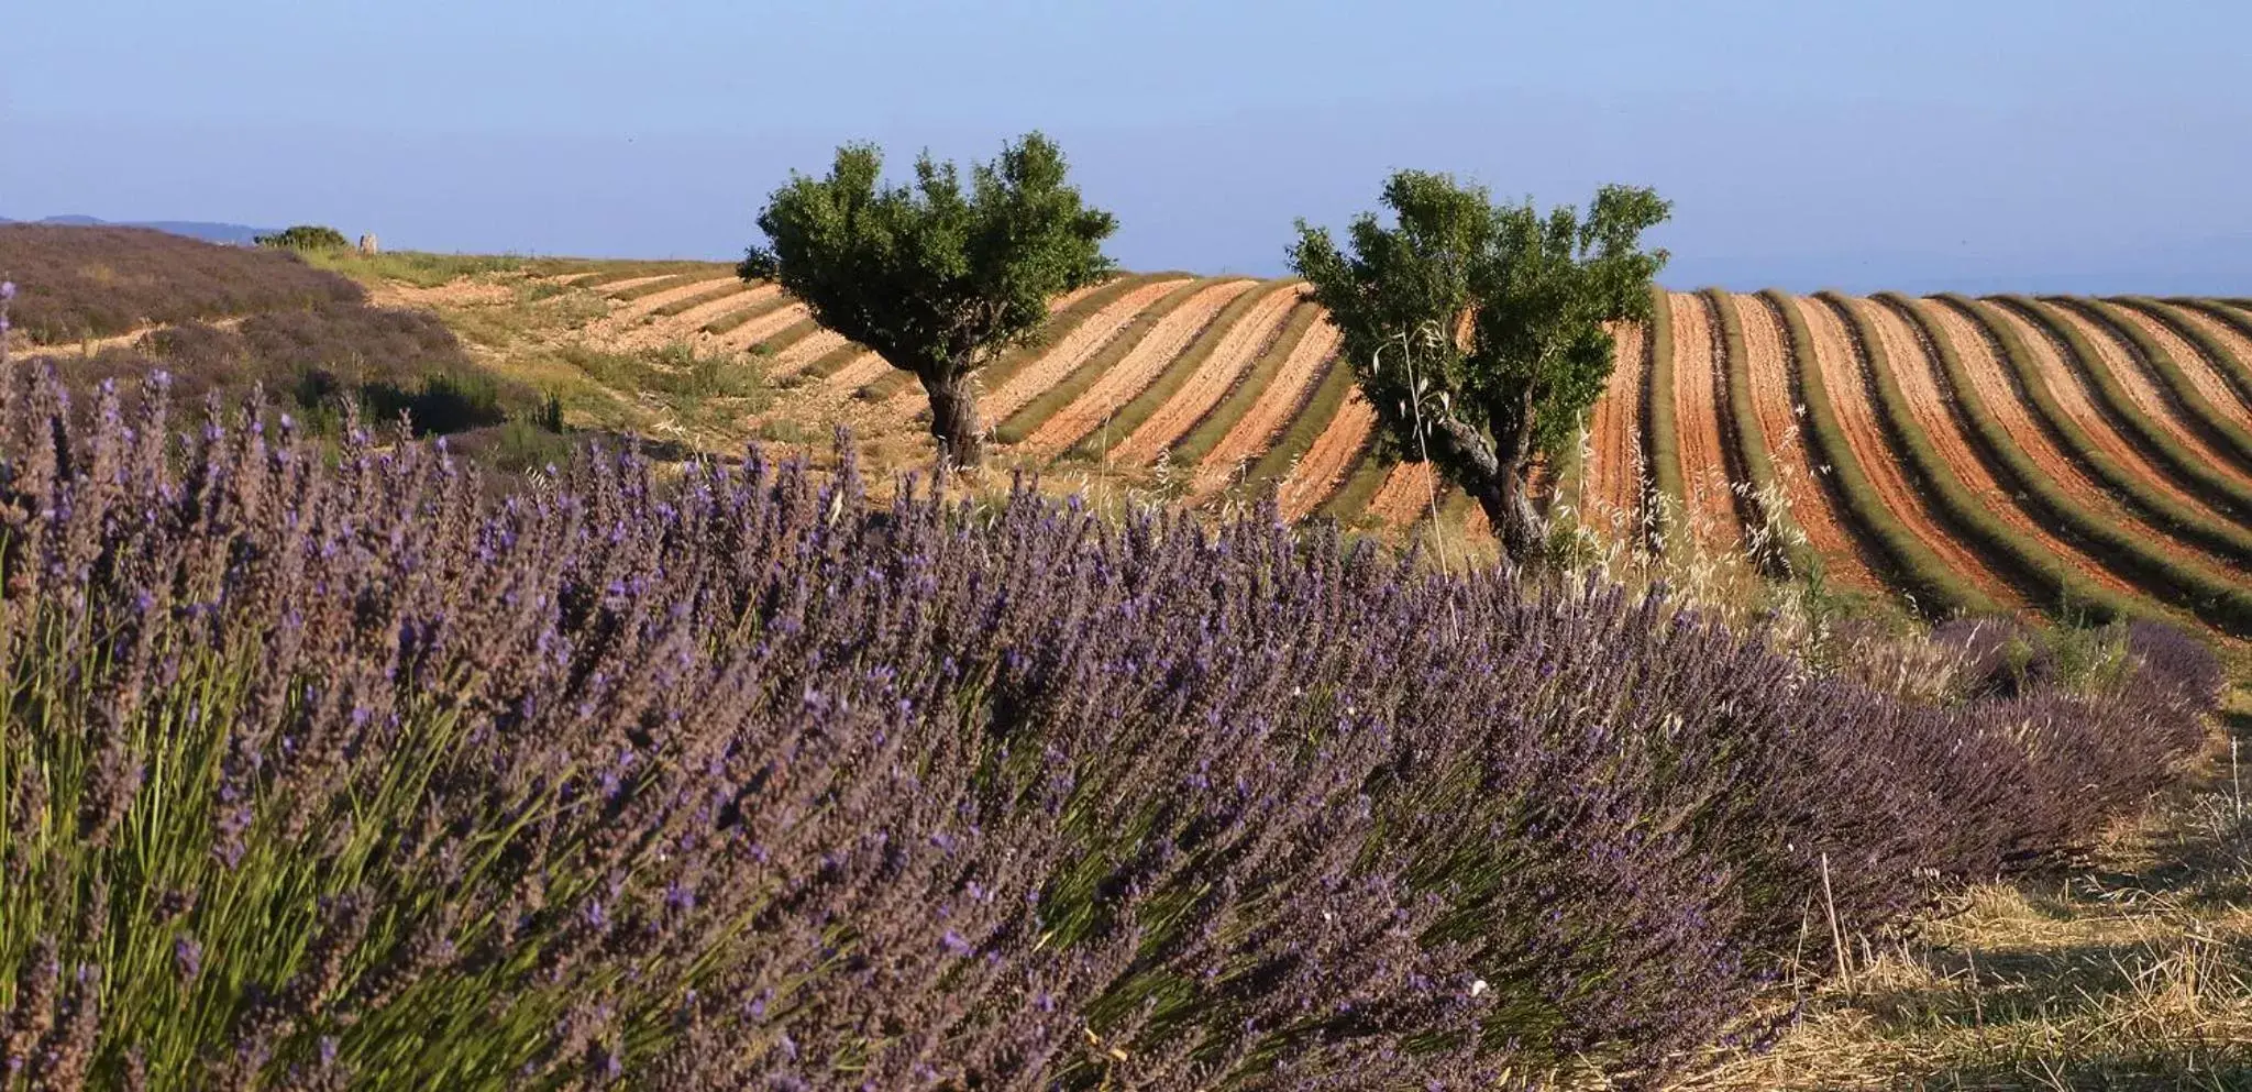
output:
[[[1844,430],[1853,457],[1860,459],[1862,473],[1885,502],[1885,509],[1989,599],[2011,610],[2025,610],[2027,603],[2018,588],[1998,576],[1977,552],[1948,534],[1946,525],[1907,480],[1901,468],[1901,455],[1885,439],[1885,426],[1876,414],[1869,392],[1867,362],[1853,349],[1844,320],[1820,299],[1795,297],[1793,304],[1797,304],[1806,331],[1813,333],[1813,367],[1822,369],[1822,381],[1829,385],[1838,426]]]

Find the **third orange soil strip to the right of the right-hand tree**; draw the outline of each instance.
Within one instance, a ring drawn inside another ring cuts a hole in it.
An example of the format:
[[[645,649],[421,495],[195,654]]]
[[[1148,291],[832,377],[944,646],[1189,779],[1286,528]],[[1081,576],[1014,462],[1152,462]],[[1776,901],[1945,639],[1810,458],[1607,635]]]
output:
[[[1824,576],[1842,588],[1878,590],[1883,581],[1869,572],[1860,554],[1860,543],[1847,531],[1844,516],[1831,500],[1817,473],[1815,455],[1806,446],[1806,417],[1790,394],[1790,351],[1784,322],[1775,308],[1757,295],[1732,295],[1730,306],[1743,326],[1745,372],[1752,383],[1752,410],[1759,414],[1759,432],[1768,441],[1768,457],[1775,462],[1775,477],[1790,507],[1790,520],[1824,558]]]

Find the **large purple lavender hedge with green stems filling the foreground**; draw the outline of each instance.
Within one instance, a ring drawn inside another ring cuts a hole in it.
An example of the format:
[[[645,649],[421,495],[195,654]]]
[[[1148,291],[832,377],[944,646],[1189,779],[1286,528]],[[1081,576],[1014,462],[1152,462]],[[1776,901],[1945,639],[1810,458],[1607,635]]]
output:
[[[2218,687],[1901,700],[849,455],[482,500],[160,387],[0,390],[0,1090],[1648,1083],[1824,871],[1867,930],[2083,840]]]

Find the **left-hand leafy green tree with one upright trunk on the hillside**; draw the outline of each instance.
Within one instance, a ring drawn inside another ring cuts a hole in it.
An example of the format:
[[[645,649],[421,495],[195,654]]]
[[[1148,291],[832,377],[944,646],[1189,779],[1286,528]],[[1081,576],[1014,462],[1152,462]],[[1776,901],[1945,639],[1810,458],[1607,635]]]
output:
[[[939,455],[977,466],[977,369],[1029,342],[1049,297],[1112,272],[1101,243],[1117,218],[1081,200],[1040,133],[975,164],[966,191],[928,151],[912,187],[885,187],[881,173],[872,144],[838,149],[829,178],[793,171],[759,214],[768,243],[736,272],[781,284],[815,322],[912,372]]]

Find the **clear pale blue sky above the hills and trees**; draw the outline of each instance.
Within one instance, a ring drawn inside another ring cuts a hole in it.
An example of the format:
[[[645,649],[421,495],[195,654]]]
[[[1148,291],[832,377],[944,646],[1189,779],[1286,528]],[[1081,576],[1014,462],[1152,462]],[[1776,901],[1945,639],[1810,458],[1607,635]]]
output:
[[[0,7],[0,216],[734,259],[874,140],[1056,137],[1126,268],[1281,275],[1403,167],[1655,187],[1675,288],[2252,293],[2252,5]]]

